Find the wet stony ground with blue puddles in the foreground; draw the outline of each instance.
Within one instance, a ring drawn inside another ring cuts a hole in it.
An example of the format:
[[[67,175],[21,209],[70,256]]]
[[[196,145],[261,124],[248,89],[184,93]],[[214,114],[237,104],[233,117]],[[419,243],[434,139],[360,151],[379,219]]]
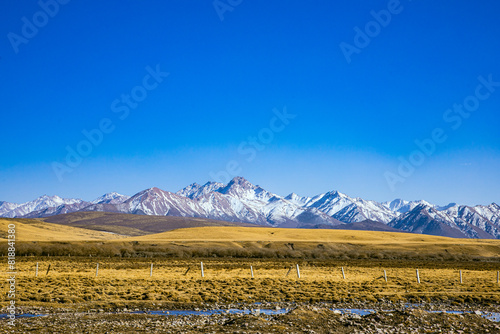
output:
[[[11,333],[500,333],[497,305],[263,303],[189,310],[22,309]],[[497,318],[495,318],[497,317]]]

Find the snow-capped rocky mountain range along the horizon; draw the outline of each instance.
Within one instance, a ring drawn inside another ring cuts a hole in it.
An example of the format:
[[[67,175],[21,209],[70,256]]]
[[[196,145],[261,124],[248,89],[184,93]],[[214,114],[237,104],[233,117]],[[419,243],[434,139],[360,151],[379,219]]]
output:
[[[176,193],[150,188],[129,197],[113,192],[91,202],[47,195],[23,204],[0,201],[0,217],[43,218],[76,211],[201,217],[301,228],[375,221],[405,232],[500,239],[500,207],[495,203],[474,207],[455,203],[440,207],[423,200],[401,199],[379,203],[338,191],[282,197],[242,177],[228,184],[193,183]]]

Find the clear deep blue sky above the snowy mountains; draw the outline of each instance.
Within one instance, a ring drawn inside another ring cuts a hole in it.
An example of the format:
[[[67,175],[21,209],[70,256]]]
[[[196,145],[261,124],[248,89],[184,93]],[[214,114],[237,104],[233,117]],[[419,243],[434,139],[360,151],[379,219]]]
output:
[[[225,171],[280,195],[500,203],[498,1],[45,2],[2,4],[0,200]]]

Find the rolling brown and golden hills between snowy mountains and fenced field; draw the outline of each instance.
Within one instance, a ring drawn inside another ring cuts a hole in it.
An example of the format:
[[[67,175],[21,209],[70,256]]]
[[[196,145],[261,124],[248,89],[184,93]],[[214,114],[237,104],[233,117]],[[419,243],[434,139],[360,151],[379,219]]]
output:
[[[3,242],[6,241],[7,226],[14,223],[17,244],[28,242],[25,243],[28,246],[31,242],[40,242],[46,245],[43,246],[45,248],[42,247],[45,252],[52,254],[59,254],[61,250],[50,244],[63,242],[66,244],[66,248],[62,250],[64,254],[85,253],[87,249],[89,254],[104,252],[113,256],[122,250],[129,254],[158,253],[163,254],[162,256],[186,251],[205,254],[208,250],[219,252],[218,256],[232,254],[235,250],[243,251],[245,256],[262,256],[269,252],[282,254],[280,252],[288,250],[309,251],[313,252],[314,256],[327,257],[339,257],[342,254],[351,254],[354,257],[365,256],[359,254],[375,257],[386,257],[387,254],[396,257],[408,254],[411,257],[441,254],[439,256],[491,259],[500,256],[500,240],[458,239],[399,231],[256,227],[206,219],[106,212],[73,213],[50,219],[53,222],[2,218],[0,230],[3,232],[0,233],[0,238]],[[25,250],[26,252],[31,254],[35,251],[30,248]],[[242,254],[240,255],[243,256]],[[283,254],[272,256],[284,256]],[[294,253],[287,254],[285,255],[298,256]]]

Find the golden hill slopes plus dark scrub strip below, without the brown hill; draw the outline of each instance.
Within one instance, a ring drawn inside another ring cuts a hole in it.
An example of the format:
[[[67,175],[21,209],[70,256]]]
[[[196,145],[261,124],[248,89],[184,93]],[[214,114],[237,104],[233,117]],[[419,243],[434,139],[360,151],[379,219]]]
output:
[[[193,227],[127,237],[33,219],[0,219],[0,253],[16,224],[19,256],[500,260],[500,240],[261,227]]]

